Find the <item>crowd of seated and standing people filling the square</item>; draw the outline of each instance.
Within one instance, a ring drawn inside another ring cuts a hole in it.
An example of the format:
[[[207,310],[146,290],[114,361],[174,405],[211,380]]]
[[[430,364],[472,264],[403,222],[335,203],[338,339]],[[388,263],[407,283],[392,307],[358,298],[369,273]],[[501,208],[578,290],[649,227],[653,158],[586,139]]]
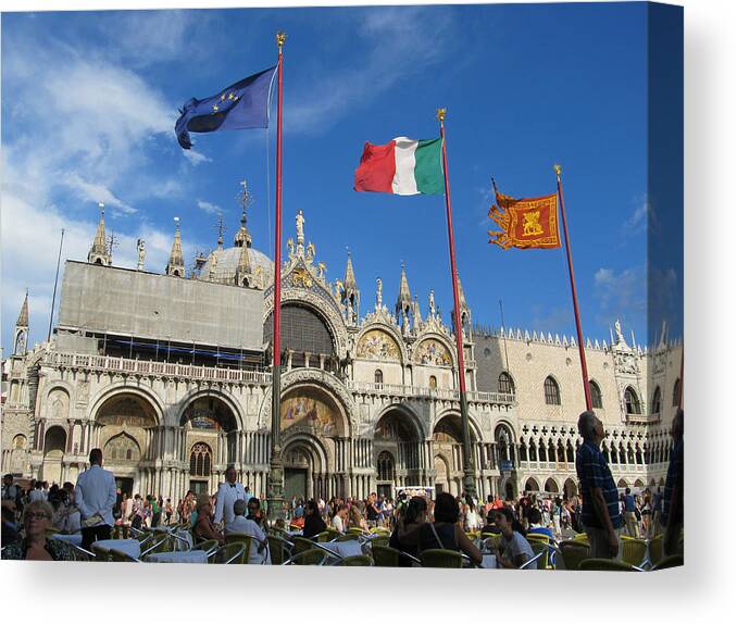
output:
[[[633,493],[620,492],[600,451],[601,421],[591,412],[578,420],[584,439],[576,453],[580,496],[551,497],[523,493],[517,500],[489,497],[479,502],[471,496],[447,492],[435,499],[399,491],[396,501],[372,492],[367,498],[293,498],[288,502],[287,521],[277,521],[285,530],[315,537],[330,528],[342,534],[386,528],[389,546],[409,557],[425,549],[452,549],[480,562],[478,547],[469,533],[499,536],[496,562],[501,567],[519,567],[529,560],[533,549],[526,533],[560,541],[586,534],[592,558],[616,558],[621,535],[651,538],[663,532],[665,553],[680,549],[683,530],[683,411],[673,421],[673,451],[665,488]],[[74,559],[68,543],[54,535],[80,534],[82,547],[89,550],[98,540],[116,535],[126,537],[129,528],[160,525],[189,527],[196,542],[223,545],[228,534],[246,534],[251,541],[250,562],[260,562],[268,530],[266,501],[257,498],[247,485],[237,482],[228,466],[225,482],[214,495],[188,491],[176,510],[171,499],[136,495],[129,498],[115,487],[113,474],[102,468],[102,451],[90,452],[90,467],[76,485],[62,486],[32,482],[28,488],[5,475],[2,487],[2,557],[5,559]],[[411,564],[411,560],[403,562]]]

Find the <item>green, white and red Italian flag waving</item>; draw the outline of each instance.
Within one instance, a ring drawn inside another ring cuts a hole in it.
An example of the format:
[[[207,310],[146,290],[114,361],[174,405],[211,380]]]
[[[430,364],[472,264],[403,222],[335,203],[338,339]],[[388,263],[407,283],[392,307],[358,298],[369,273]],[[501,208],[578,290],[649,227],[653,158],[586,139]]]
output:
[[[442,139],[397,137],[386,146],[366,141],[353,189],[397,196],[442,195]]]

